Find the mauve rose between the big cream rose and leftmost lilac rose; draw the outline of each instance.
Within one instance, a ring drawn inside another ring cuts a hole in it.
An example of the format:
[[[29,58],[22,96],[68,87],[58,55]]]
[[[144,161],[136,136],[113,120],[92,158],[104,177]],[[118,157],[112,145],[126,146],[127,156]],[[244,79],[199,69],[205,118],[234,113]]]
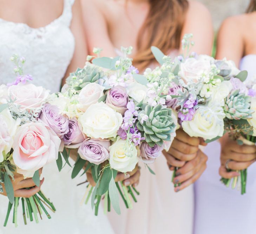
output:
[[[78,148],[79,144],[85,140],[84,134],[78,125],[76,119],[71,119],[68,123],[68,132],[63,136],[66,146],[72,145],[72,148]]]

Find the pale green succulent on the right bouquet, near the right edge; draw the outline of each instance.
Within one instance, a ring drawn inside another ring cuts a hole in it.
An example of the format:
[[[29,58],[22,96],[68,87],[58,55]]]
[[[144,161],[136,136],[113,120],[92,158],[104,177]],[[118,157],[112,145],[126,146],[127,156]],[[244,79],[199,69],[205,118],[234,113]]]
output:
[[[251,97],[245,94],[239,94],[239,90],[230,93],[225,99],[224,112],[228,119],[250,119],[251,114],[254,113],[250,110]]]

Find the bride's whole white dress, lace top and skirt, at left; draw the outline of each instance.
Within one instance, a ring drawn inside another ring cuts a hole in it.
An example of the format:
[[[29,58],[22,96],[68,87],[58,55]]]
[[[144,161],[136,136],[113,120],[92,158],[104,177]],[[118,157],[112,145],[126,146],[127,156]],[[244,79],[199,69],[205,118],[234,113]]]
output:
[[[63,14],[49,25],[37,29],[0,19],[0,84],[15,79],[14,65],[9,60],[15,53],[26,58],[24,73],[33,76],[35,85],[44,86],[52,92],[59,91],[74,52],[75,40],[69,28],[73,2],[64,0]],[[18,228],[14,228],[12,215],[4,228],[8,199],[0,195],[0,234],[113,233],[101,210],[99,216],[94,217],[90,205],[80,205],[86,188],[76,185],[85,178],[71,180],[71,171],[66,165],[59,173],[55,162],[44,167],[42,176],[45,182],[41,189],[53,201],[57,212],[50,213],[50,220],[43,215],[39,224],[28,221],[24,225],[20,205]]]

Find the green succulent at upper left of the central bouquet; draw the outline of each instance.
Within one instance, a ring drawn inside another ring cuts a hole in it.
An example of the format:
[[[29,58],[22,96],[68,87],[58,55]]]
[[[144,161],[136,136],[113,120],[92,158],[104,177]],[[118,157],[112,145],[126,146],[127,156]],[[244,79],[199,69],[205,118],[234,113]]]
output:
[[[98,66],[87,62],[84,68],[77,68],[76,72],[70,73],[66,83],[72,85],[75,83],[75,89],[80,90],[88,83],[99,83],[99,80],[104,77],[104,72]]]

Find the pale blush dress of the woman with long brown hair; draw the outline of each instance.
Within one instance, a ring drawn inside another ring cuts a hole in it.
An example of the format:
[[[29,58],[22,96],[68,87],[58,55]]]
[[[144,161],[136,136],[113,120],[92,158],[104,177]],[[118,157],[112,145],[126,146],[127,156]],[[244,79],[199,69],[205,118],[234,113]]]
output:
[[[122,55],[116,49],[118,55]],[[172,51],[169,56],[177,56]],[[157,64],[152,64],[154,69]],[[194,196],[193,185],[176,193],[171,182],[172,172],[166,164],[165,156],[160,155],[150,168],[156,173],[152,175],[144,163],[139,162],[141,174],[133,209],[126,209],[120,199],[121,215],[114,211],[108,214],[111,225],[117,234],[192,234]]]

